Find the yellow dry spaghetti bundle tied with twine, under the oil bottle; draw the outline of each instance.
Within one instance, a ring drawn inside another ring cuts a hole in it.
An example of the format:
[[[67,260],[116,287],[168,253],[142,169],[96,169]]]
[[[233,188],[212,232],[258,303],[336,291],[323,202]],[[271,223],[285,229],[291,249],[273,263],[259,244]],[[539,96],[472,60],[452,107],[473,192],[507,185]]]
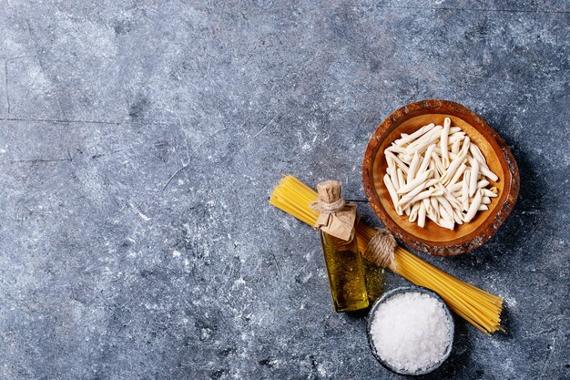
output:
[[[317,192],[294,176],[285,176],[273,190],[270,204],[309,225],[319,216],[310,209],[310,202],[317,200]],[[376,230],[359,221],[356,238],[360,252],[365,252]],[[462,316],[484,334],[504,331],[500,326],[503,299],[443,272],[401,246],[394,252],[396,262],[393,272],[418,286],[438,293],[453,312]]]

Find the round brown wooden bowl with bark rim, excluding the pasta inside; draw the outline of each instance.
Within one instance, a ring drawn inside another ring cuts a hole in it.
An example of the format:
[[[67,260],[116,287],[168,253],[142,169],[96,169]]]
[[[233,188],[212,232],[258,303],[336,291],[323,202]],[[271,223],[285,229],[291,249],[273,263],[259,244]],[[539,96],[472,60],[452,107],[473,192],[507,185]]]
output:
[[[451,118],[452,126],[467,133],[483,152],[489,169],[499,177],[491,182],[498,190],[488,211],[479,211],[469,223],[456,225],[451,231],[426,221],[421,228],[400,216],[394,210],[390,194],[382,180],[387,162],[384,149],[402,133],[412,133],[429,123],[443,125],[443,118]],[[376,128],[368,142],[362,162],[364,192],[372,209],[394,236],[414,250],[439,256],[453,256],[473,249],[488,241],[513,210],[519,191],[516,161],[503,139],[471,109],[447,100],[422,100],[397,109]]]

